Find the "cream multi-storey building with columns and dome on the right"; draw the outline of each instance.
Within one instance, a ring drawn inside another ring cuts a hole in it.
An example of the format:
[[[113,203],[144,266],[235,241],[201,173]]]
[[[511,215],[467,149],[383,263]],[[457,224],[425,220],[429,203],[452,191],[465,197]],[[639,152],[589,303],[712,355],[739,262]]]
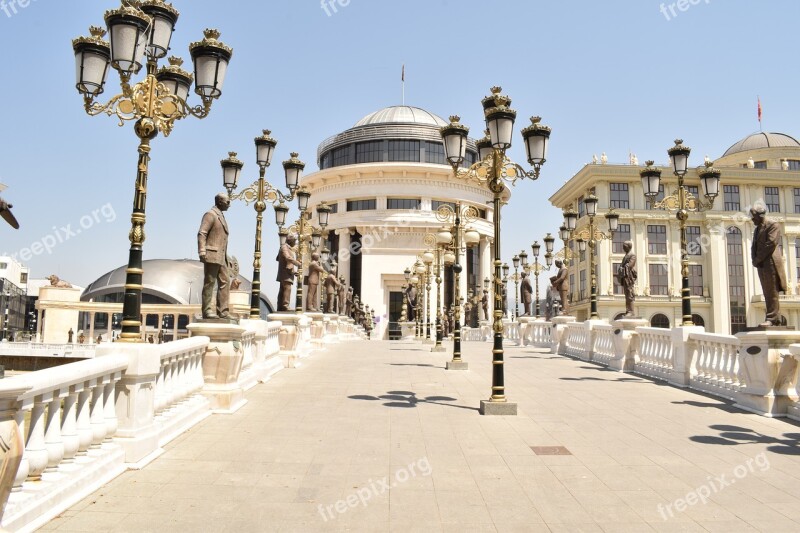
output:
[[[666,148],[666,147],[665,147]],[[662,156],[662,154],[656,154]],[[693,155],[690,163],[702,163]],[[718,333],[736,333],[764,320],[765,305],[758,274],[750,261],[753,224],[749,208],[763,204],[783,230],[781,250],[787,268],[788,291],[781,313],[790,325],[800,324],[800,143],[782,133],[755,133],[731,146],[714,161],[722,172],[720,194],[712,209],[690,213],[687,220],[689,282],[695,323]],[[655,326],[681,322],[681,244],[675,212],[657,210],[646,201],[638,164],[587,164],[551,198],[559,209],[579,212],[578,227],[589,220],[582,200],[593,192],[598,198],[595,225],[608,232],[602,216],[609,209],[619,215],[613,240],[599,243],[597,256],[598,311],[614,319],[625,310],[622,288],[613,273],[623,257],[622,243],[633,242],[638,259],[637,314]],[[702,166],[698,167],[698,170]],[[663,199],[677,188],[669,166],[662,168]],[[685,178],[689,192],[703,198],[696,171]],[[555,230],[555,228],[554,228]],[[591,272],[589,252],[581,254],[570,241],[573,256],[569,286],[572,314],[589,316]],[[561,252],[564,253],[563,251]]]

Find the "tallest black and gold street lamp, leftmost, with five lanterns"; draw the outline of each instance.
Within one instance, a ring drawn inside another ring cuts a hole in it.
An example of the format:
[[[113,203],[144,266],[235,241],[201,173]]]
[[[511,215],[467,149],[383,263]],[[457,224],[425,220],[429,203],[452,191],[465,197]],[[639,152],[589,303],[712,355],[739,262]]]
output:
[[[233,55],[233,50],[218,40],[220,33],[209,29],[202,41],[189,45],[194,76],[181,68],[180,58],[170,58],[170,65],[159,70],[158,61],[167,55],[178,16],[178,11],[163,0],[123,0],[119,8],[106,12],[107,31],[92,26],[89,37],[72,41],[75,87],[83,96],[86,113],[115,115],[120,126],[135,121],[133,130],[139,138],[120,342],[142,341],[142,247],[150,141],[159,133],[168,137],[178,120],[190,115],[200,119],[208,116],[212,102],[222,95]],[[104,40],[106,34],[109,41]],[[145,64],[145,78],[131,86],[131,78]],[[117,71],[122,92],[107,103],[99,103],[95,98],[105,91],[109,66]],[[193,80],[202,105],[191,106],[187,101]]]

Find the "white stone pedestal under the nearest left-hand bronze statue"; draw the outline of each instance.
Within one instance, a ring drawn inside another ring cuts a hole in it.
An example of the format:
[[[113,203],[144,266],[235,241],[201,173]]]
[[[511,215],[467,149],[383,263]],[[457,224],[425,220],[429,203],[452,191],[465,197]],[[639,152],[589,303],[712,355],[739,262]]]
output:
[[[242,337],[246,329],[239,324],[199,321],[186,326],[192,337],[211,339],[203,356],[203,394],[217,413],[233,413],[242,407],[244,390],[239,385],[244,352]]]

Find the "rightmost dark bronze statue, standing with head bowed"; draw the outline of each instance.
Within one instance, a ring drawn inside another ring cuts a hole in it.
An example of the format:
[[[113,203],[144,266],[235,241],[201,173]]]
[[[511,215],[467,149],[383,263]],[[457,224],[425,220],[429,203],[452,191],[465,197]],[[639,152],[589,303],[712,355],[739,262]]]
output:
[[[753,266],[758,269],[758,279],[764,292],[767,305],[766,321],[760,325],[780,326],[781,308],[778,293],[786,291],[786,270],[783,256],[778,244],[781,242],[781,230],[778,223],[766,217],[764,206],[750,208],[750,216],[756,225],[753,233],[753,246],[750,250]]]

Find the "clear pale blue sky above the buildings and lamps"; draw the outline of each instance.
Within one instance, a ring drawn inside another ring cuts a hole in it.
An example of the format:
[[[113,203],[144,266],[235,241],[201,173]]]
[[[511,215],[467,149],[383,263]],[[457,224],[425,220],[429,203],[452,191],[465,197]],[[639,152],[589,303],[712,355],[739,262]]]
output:
[[[145,259],[197,258],[197,228],[222,191],[219,161],[237,151],[240,183],[257,179],[253,138],[278,139],[267,178],[297,151],[317,169],[321,141],[361,117],[405,103],[443,118],[458,114],[480,137],[480,101],[503,87],[518,111],[553,128],[539,180],[519,182],[503,210],[503,256],[530,254],[557,235],[561,212],[547,199],[602,152],[610,163],[667,160],[673,139],[712,159],[759,130],[800,136],[797,0],[175,0],[171,53],[204,28],[234,49],[222,97],[204,120],[187,118],[152,143]],[[679,5],[680,4],[680,5]],[[103,25],[113,0],[0,0],[0,183],[21,228],[0,223],[0,254],[32,278],[56,274],[85,286],[127,263],[137,138],[90,117],[75,90],[71,40]],[[684,10],[681,10],[681,7]],[[109,74],[105,102],[119,92]],[[194,96],[191,101],[197,103]],[[521,136],[510,156],[525,163]],[[255,212],[227,213],[229,254],[252,275]],[[265,213],[264,291],[274,298],[277,231]],[[27,251],[27,253],[25,253]],[[540,276],[540,283],[548,276]]]

